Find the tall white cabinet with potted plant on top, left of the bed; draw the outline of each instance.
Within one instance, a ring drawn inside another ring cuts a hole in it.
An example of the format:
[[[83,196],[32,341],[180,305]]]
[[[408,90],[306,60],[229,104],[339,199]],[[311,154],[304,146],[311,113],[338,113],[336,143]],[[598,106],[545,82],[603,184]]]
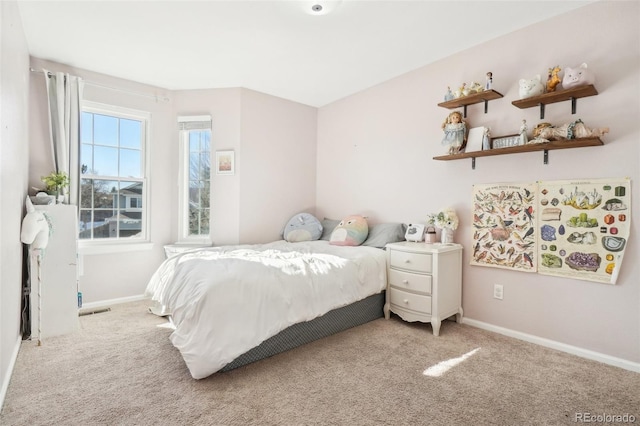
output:
[[[41,258],[38,259],[38,250],[31,250],[29,255],[31,338],[37,339],[39,336],[42,339],[71,333],[79,326],[78,220],[76,206],[55,204],[34,207],[49,216],[53,226],[49,244]]]

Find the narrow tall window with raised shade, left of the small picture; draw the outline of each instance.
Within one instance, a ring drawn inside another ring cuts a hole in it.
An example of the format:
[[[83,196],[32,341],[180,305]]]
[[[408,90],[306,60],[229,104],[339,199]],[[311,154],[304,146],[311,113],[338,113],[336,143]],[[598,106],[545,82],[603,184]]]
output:
[[[178,117],[181,153],[180,240],[210,242],[211,117]]]

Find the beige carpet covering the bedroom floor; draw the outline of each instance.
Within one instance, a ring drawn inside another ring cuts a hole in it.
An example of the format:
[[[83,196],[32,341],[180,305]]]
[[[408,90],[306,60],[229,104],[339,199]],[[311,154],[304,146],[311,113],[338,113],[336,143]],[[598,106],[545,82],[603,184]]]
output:
[[[43,346],[24,342],[0,424],[640,423],[640,374],[450,321],[434,337],[426,324],[379,319],[204,380],[163,323],[135,302],[81,317],[80,332]]]

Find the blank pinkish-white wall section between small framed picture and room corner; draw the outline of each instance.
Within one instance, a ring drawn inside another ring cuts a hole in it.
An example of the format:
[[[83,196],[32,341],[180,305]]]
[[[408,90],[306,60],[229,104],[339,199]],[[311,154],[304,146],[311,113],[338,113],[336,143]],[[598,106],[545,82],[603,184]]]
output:
[[[281,239],[291,216],[315,213],[317,109],[242,91],[240,241]]]

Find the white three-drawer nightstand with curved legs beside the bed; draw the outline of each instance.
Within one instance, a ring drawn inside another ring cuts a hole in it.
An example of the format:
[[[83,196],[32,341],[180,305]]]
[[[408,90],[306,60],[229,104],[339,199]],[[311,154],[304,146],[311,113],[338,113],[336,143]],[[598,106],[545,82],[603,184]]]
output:
[[[462,317],[462,245],[400,242],[387,244],[384,316],[430,322],[434,336],[450,316]]]

